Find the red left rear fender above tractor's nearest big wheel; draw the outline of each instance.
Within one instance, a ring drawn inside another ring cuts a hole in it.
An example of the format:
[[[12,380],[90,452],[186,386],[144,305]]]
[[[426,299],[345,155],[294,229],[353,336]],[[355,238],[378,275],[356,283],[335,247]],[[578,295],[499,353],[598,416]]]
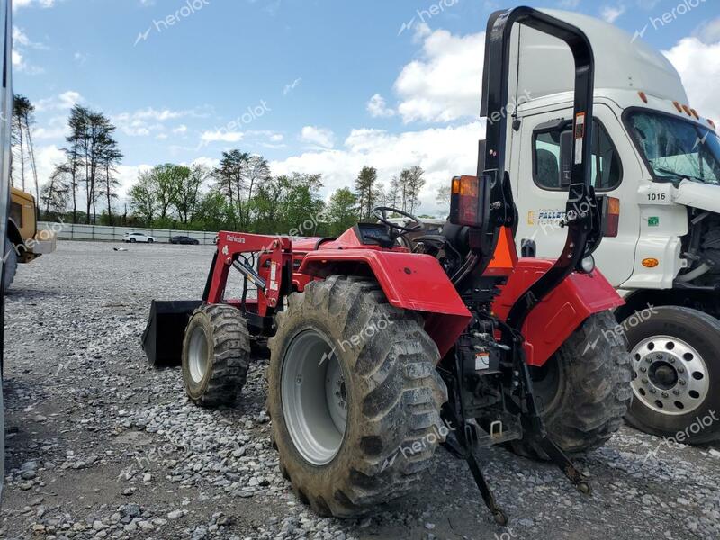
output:
[[[392,306],[422,313],[425,330],[441,358],[473,317],[443,267],[429,255],[375,249],[320,250],[304,257],[299,273],[316,278],[374,276]]]

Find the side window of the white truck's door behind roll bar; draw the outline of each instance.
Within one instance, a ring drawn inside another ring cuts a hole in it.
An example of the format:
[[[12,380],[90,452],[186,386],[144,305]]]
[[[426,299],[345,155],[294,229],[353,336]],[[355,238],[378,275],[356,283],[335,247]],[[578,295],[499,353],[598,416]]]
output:
[[[571,124],[567,122],[553,129],[541,127],[533,134],[533,178],[543,189],[563,189],[560,185],[560,135],[570,129]],[[597,120],[593,122],[591,175],[592,185],[599,192],[614,190],[623,179],[623,167],[617,149],[608,131]]]

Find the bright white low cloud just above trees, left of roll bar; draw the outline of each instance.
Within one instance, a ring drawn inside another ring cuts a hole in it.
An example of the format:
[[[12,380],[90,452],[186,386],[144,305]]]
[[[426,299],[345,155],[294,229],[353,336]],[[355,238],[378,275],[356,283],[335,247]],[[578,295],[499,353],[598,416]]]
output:
[[[270,164],[274,175],[321,173],[324,194],[352,184],[363,166],[374,166],[384,184],[403,168],[422,166],[427,184],[421,193],[421,210],[437,213],[437,188],[449,184],[454,175],[474,175],[477,141],[484,137],[484,123],[473,121],[452,128],[408,131],[353,130],[342,149],[320,149]]]

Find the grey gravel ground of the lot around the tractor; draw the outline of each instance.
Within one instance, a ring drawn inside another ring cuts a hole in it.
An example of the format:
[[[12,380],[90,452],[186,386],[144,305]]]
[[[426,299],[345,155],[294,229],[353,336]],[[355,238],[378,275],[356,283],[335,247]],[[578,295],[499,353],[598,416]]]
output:
[[[212,248],[113,247],[61,242],[7,297],[2,538],[720,538],[720,452],[632,428],[578,460],[590,498],[551,465],[483,451],[508,528],[444,451],[412,498],[317,518],[278,471],[266,360],[237,408],[210,411],[139,347],[150,299],[199,297]]]

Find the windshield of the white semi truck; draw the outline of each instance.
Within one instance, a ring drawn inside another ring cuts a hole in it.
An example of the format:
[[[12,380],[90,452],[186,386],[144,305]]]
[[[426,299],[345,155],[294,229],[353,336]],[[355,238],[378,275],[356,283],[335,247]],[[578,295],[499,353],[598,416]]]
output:
[[[658,182],[688,179],[720,185],[720,139],[715,131],[647,111],[630,112],[627,127]]]

